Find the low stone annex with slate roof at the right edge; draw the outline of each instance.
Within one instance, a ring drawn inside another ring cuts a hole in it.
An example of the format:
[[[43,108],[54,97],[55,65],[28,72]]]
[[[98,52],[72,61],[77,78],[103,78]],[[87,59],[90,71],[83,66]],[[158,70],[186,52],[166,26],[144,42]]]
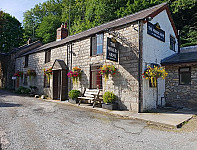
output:
[[[166,78],[166,103],[175,107],[197,108],[197,46],[162,60],[169,75]]]

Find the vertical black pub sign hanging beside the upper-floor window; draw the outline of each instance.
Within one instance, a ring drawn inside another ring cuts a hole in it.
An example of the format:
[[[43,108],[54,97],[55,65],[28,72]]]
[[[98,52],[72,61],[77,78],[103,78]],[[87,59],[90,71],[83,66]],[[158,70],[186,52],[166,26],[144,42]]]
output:
[[[118,42],[113,38],[107,38],[106,59],[118,62]]]

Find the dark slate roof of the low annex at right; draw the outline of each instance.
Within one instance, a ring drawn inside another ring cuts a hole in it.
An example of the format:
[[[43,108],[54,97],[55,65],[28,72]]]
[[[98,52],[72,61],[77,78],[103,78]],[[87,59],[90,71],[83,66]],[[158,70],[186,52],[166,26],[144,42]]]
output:
[[[176,53],[161,61],[162,65],[197,62],[197,52]]]

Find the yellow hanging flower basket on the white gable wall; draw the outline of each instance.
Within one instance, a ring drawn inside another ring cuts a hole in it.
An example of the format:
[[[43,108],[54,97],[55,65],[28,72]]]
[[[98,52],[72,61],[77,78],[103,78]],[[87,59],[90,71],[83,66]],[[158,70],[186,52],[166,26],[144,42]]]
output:
[[[148,66],[142,75],[143,78],[151,81],[152,87],[157,87],[157,79],[158,78],[165,79],[168,73],[165,71],[163,67]]]

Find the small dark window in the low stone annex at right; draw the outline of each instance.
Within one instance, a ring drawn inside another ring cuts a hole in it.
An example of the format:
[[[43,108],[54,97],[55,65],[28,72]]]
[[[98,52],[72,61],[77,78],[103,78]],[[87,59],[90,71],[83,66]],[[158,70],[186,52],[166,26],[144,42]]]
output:
[[[191,84],[191,70],[190,67],[179,68],[179,84]]]

